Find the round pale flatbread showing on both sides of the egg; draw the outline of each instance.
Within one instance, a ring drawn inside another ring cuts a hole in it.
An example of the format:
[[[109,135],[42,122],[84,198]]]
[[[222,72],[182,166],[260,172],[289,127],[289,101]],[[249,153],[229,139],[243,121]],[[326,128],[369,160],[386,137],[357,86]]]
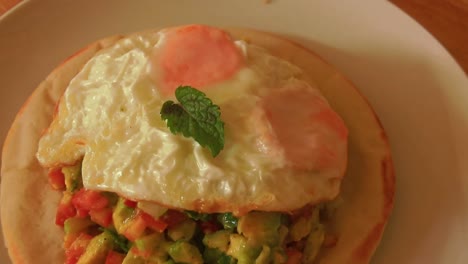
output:
[[[368,263],[393,206],[395,178],[388,141],[378,118],[357,89],[311,51],[269,33],[228,29],[301,67],[341,115],[349,129],[349,165],[340,205],[327,230],[338,237],[318,263]],[[138,33],[137,33],[138,34]],[[14,263],[63,263],[63,232],[55,225],[60,192],[35,158],[37,143],[55,104],[86,61],[121,36],[100,40],[72,56],[34,91],[18,113],[2,153],[1,218]]]

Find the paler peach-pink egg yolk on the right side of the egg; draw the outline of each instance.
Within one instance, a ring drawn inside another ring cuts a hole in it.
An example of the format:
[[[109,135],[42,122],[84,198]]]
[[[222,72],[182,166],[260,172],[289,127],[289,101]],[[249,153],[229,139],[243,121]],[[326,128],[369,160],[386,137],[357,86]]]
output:
[[[270,154],[282,153],[297,169],[324,169],[340,158],[336,145],[346,142],[342,119],[315,90],[302,86],[275,89],[253,115],[259,141]]]

